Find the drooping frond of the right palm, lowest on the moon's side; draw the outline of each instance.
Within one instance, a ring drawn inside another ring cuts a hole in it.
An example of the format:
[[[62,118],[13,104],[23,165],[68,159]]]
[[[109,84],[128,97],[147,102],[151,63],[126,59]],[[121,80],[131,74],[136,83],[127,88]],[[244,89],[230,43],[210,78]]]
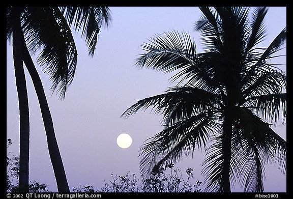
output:
[[[183,155],[206,148],[209,132],[213,131],[213,119],[201,113],[165,128],[140,148],[142,173],[157,170],[162,165],[178,162]],[[212,125],[212,126],[213,126]]]

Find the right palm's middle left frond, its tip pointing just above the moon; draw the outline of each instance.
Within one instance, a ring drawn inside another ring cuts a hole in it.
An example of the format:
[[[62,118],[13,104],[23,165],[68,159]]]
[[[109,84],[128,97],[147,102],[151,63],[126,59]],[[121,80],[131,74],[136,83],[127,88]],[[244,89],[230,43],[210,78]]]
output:
[[[164,113],[165,125],[195,116],[207,109],[217,110],[219,96],[193,87],[173,87],[166,93],[139,100],[128,108],[121,117],[127,118],[138,110],[153,107],[155,114]]]

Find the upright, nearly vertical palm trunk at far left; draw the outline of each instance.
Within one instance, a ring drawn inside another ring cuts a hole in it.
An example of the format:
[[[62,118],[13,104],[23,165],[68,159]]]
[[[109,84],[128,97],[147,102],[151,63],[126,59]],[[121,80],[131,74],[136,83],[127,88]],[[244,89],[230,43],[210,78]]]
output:
[[[13,33],[12,33],[12,48],[13,62],[15,70],[16,88],[19,103],[19,180],[18,191],[28,192],[28,166],[30,156],[30,117],[28,111],[28,98],[26,90],[25,74],[22,63],[21,52],[21,23],[19,8],[13,8]]]

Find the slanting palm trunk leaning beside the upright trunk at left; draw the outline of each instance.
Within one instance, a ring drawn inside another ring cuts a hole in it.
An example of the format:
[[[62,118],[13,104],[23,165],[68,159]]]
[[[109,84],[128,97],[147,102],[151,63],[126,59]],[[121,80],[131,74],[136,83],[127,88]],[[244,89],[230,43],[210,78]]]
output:
[[[46,95],[43,89],[42,81],[39,77],[38,71],[36,70],[31,55],[26,48],[24,38],[22,38],[22,53],[24,64],[32,77],[34,87],[38,96],[47,136],[49,155],[54,170],[58,192],[70,192],[61,154],[55,137],[53,121],[49,110],[49,105],[46,99]]]

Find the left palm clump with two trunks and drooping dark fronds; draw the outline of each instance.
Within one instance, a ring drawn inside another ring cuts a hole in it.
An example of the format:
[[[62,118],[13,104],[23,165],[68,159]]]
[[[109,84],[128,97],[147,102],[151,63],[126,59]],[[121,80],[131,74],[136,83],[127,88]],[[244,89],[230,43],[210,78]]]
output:
[[[13,42],[13,58],[20,110],[19,191],[28,192],[30,128],[23,63],[33,80],[38,96],[48,150],[59,192],[70,192],[53,121],[41,79],[30,51],[41,50],[38,64],[44,66],[53,82],[51,91],[64,99],[77,65],[77,49],[70,27],[82,30],[89,54],[94,55],[103,24],[111,20],[107,7],[7,7],[7,40]]]

